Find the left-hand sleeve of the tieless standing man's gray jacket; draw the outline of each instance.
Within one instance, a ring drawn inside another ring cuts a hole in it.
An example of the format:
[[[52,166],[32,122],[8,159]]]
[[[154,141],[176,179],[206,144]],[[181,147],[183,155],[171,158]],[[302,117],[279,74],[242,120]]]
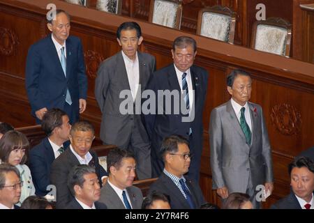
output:
[[[106,93],[109,88],[110,77],[109,70],[106,68],[105,64],[101,64],[97,71],[97,77],[95,80],[95,98],[98,102],[98,106],[103,113],[105,107]]]

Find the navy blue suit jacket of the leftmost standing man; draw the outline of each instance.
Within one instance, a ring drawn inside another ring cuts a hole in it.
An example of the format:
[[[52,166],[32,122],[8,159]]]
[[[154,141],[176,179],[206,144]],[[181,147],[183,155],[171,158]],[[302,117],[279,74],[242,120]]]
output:
[[[43,107],[63,109],[68,89],[77,116],[69,118],[76,120],[79,99],[87,98],[87,76],[80,39],[69,36],[66,40],[66,76],[51,35],[31,45],[27,55],[25,85],[33,116]]]

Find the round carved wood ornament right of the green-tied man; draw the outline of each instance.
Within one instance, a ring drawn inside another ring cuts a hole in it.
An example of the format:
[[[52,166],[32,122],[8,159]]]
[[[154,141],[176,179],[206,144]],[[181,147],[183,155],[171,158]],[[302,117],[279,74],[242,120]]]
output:
[[[271,109],[271,123],[281,134],[299,134],[302,123],[301,114],[292,105],[275,105]]]

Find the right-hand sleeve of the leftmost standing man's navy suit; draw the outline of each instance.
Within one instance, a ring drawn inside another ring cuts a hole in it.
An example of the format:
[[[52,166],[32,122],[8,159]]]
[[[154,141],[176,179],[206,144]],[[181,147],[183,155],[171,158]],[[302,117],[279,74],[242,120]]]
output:
[[[87,76],[85,73],[85,63],[84,63],[84,54],[83,54],[83,47],[82,43],[79,40],[78,49],[77,49],[77,57],[78,57],[78,64],[77,64],[77,81],[79,84],[79,98],[87,99]]]

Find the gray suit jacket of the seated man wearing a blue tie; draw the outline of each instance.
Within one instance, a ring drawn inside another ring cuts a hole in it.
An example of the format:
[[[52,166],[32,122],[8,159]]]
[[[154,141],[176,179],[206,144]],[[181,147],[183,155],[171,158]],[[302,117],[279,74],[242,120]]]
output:
[[[143,194],[140,188],[135,186],[130,186],[126,188],[128,192],[128,197],[130,197],[130,203],[133,209],[141,209],[143,202]],[[119,198],[118,194],[106,183],[103,188],[101,188],[101,195],[99,202],[105,203],[108,209],[126,209],[124,203]]]

